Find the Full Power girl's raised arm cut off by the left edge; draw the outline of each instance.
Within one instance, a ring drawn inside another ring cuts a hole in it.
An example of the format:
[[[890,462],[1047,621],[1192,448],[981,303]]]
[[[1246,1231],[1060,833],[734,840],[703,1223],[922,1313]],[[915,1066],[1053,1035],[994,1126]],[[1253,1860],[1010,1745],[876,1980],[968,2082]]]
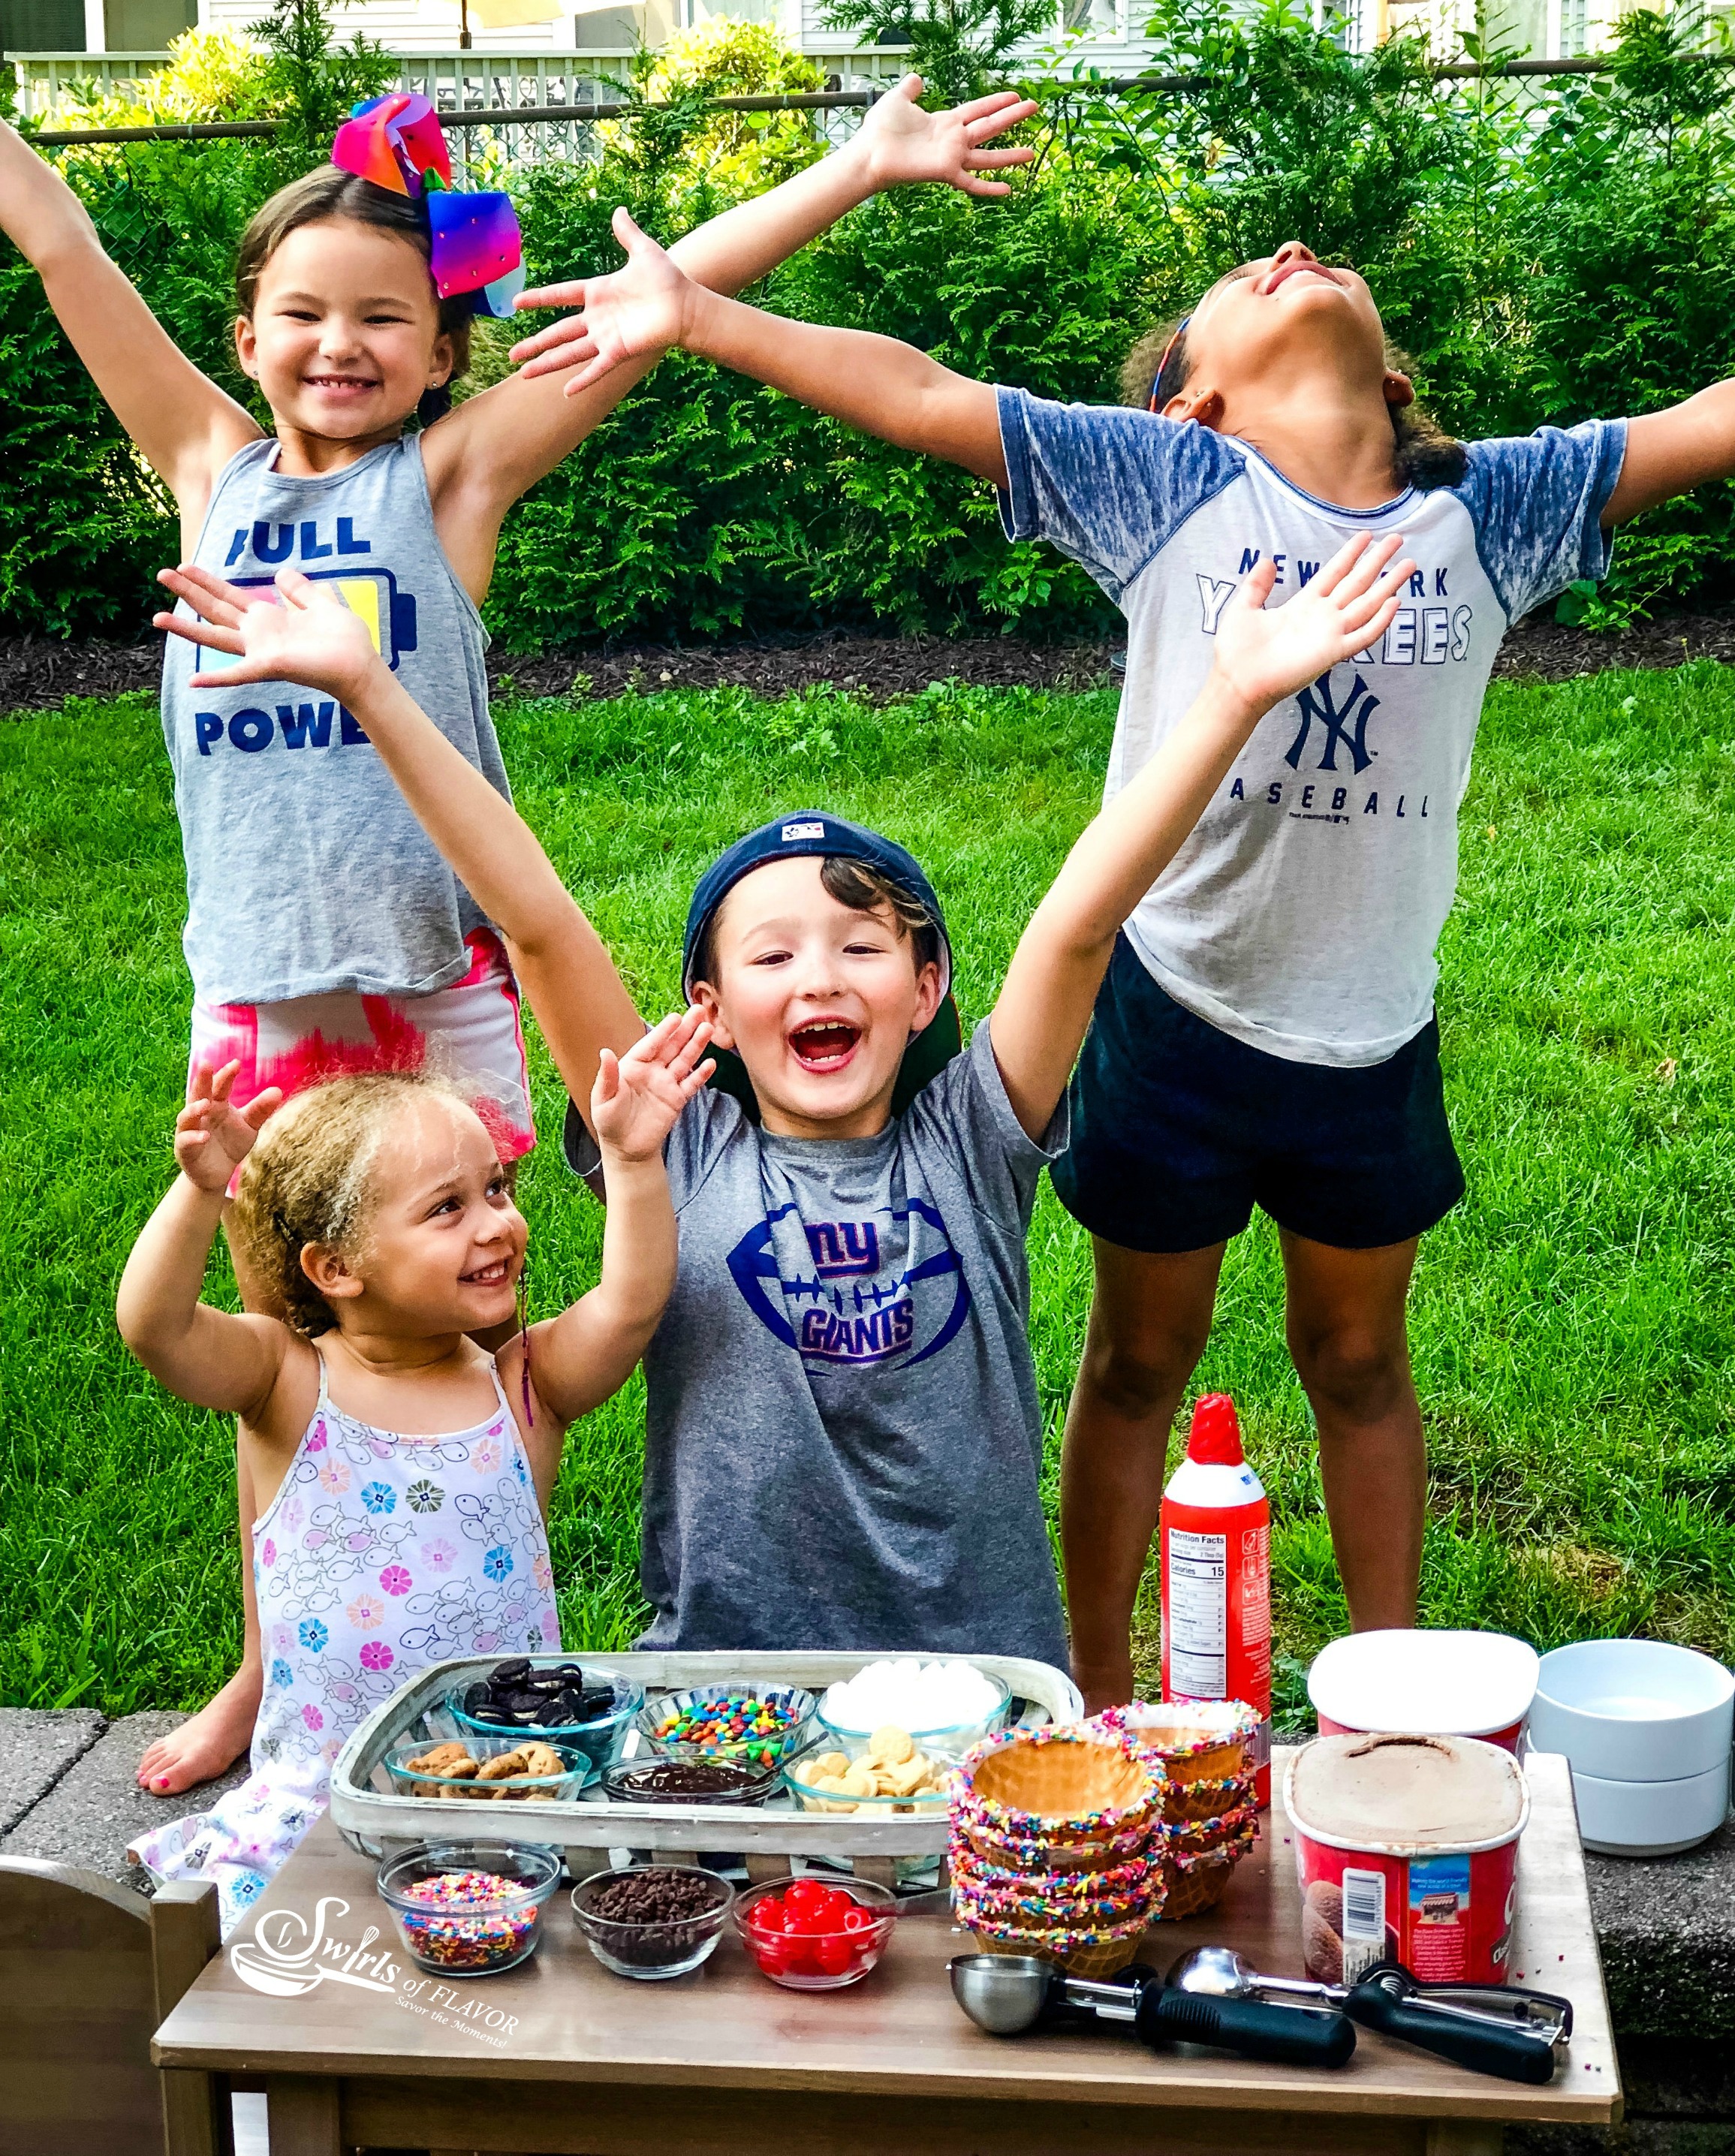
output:
[[[259,425],[177,349],[103,252],[84,203],[0,121],[0,231],[43,280],[47,304],[108,407],[181,511],[188,552],[222,466]]]

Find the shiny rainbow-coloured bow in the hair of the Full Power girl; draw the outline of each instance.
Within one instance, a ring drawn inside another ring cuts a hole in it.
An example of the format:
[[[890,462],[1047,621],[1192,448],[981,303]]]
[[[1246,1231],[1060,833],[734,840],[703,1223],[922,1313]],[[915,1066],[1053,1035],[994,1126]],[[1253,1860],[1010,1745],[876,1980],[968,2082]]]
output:
[[[356,106],[332,140],[332,164],[425,203],[442,300],[470,293],[474,313],[511,315],[524,291],[517,211],[506,194],[453,188],[446,132],[427,97],[392,91]]]

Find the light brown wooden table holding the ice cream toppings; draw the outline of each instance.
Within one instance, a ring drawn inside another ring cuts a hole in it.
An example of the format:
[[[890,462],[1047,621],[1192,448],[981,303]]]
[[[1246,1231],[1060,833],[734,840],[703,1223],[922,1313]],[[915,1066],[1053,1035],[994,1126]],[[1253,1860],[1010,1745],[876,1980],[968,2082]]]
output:
[[[1054,2156],[1073,2143],[1091,2156],[1485,2156],[1507,2119],[1621,2115],[1567,1766],[1532,1757],[1528,1772],[1513,1975],[1576,2009],[1571,2063],[1545,2089],[1466,2074],[1366,2031],[1334,2074],[1151,2053],[1108,2029],[989,2037],[950,1999],[946,1960],[970,1940],[938,1912],[905,1917],[879,1968],[843,1992],[778,1990],[733,1936],[692,1977],[631,1984],[591,1958],[565,1895],[547,1904],[541,1951],[524,1968],[429,1977],[414,1996],[418,1973],[397,1951],[394,1990],[321,1981],[289,2001],[250,1990],[224,1953],[162,2024],[153,2055],[166,2068],[265,2076],[272,2156],[356,2143],[537,2156]],[[1300,1971],[1287,1837],[1278,1802],[1220,1908],[1162,1925],[1147,1958],[1166,1966],[1222,1940],[1254,1968]],[[366,1951],[394,1949],[373,1865],[330,1822],[261,1910],[310,1923],[325,1895],[347,1904],[328,1908],[328,1938],[358,1947],[379,1925]]]

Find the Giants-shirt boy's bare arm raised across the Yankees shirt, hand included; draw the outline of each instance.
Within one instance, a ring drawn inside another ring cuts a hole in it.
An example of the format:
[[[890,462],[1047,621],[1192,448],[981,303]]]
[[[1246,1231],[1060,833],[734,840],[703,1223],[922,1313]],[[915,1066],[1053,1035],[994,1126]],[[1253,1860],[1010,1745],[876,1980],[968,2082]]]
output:
[[[1265,711],[1386,632],[1416,567],[1392,563],[1401,545],[1399,535],[1351,539],[1269,612],[1274,569],[1261,563],[1222,612],[1211,675],[1192,709],[1067,854],[989,1022],[1007,1097],[1032,1138],[1067,1087],[1121,923],[1175,858]]]

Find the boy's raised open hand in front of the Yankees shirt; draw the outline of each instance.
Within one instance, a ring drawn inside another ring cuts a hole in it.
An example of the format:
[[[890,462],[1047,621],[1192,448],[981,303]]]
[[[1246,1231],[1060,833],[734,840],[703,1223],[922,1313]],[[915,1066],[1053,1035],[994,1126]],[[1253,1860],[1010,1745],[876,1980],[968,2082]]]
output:
[[[1267,608],[1276,569],[1261,561],[1218,621],[1216,673],[1254,711],[1293,696],[1332,666],[1366,651],[1390,627],[1416,563],[1403,533],[1351,539],[1293,599]],[[1384,571],[1384,573],[1382,573]]]

